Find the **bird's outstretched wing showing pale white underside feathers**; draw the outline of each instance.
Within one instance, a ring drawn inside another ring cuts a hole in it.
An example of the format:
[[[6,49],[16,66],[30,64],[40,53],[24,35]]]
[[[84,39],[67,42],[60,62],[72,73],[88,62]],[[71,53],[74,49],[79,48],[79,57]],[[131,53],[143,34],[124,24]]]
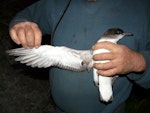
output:
[[[19,61],[31,67],[47,68],[56,66],[72,71],[84,71],[87,63],[84,62],[80,51],[67,47],[42,45],[39,48],[17,48],[8,50],[9,55],[17,56]],[[85,52],[86,53],[86,52]]]

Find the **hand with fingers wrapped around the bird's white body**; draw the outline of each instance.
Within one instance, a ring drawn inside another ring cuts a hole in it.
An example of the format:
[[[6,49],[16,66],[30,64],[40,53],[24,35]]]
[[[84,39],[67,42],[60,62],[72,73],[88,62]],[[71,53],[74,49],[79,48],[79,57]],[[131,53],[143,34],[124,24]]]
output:
[[[107,63],[95,63],[97,73],[103,76],[127,74],[130,72],[142,72],[146,69],[144,57],[124,45],[111,42],[100,42],[93,46],[93,50],[105,48],[108,53],[96,54],[94,60],[109,60]]]

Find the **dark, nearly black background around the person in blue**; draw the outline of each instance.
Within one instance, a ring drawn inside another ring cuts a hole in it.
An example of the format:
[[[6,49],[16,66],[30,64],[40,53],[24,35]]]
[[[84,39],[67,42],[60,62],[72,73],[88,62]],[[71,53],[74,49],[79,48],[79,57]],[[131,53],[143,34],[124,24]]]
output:
[[[54,113],[48,81],[49,69],[14,62],[5,51],[18,47],[8,34],[10,20],[37,0],[0,0],[0,113]],[[43,38],[49,43],[50,36]],[[150,113],[150,90],[134,85],[126,113]]]

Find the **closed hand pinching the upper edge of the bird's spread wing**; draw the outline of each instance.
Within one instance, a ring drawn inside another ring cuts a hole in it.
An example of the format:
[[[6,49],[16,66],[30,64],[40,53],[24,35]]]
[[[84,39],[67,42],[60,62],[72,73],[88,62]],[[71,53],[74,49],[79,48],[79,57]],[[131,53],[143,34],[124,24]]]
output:
[[[33,22],[18,22],[9,31],[11,39],[24,48],[39,47],[42,33],[38,25]]]

